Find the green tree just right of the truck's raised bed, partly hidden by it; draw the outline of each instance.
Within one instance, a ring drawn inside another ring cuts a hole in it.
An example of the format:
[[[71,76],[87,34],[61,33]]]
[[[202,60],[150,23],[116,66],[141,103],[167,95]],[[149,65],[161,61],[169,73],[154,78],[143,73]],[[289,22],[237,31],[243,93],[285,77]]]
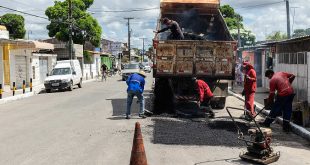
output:
[[[238,40],[238,27],[240,28],[240,40],[241,47],[246,45],[255,44],[255,35],[248,29],[245,29],[243,25],[243,18],[240,14],[229,6],[224,5],[220,7],[220,11],[223,14],[224,20],[228,26],[228,29],[235,40]]]

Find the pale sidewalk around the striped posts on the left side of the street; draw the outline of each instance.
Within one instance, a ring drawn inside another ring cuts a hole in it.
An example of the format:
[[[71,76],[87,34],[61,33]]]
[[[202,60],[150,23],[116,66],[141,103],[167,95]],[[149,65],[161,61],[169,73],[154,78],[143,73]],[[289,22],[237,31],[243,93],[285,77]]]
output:
[[[93,82],[95,80],[96,79],[83,80],[83,83],[89,83],[89,82]],[[0,99],[0,104],[5,104],[5,103],[11,102],[11,101],[16,101],[16,100],[28,98],[28,97],[39,94],[43,90],[45,90],[45,88],[44,88],[44,85],[41,84],[38,86],[34,86],[32,88],[32,92],[30,92],[30,88],[26,88],[25,94],[23,94],[22,89],[16,90],[15,96],[13,96],[13,91],[9,87],[6,87],[2,93],[2,99]]]

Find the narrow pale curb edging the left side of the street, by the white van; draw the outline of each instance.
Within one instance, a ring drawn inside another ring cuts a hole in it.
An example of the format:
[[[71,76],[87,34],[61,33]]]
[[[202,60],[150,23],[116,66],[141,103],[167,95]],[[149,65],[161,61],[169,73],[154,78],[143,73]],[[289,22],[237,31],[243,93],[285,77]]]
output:
[[[96,79],[84,80],[83,83],[90,83],[90,82],[94,82],[94,81],[96,81]],[[35,90],[35,89],[37,89],[37,90]],[[19,94],[19,95],[16,95],[16,96],[10,96],[10,97],[6,97],[6,98],[1,99],[0,100],[0,105],[1,104],[6,104],[6,103],[9,103],[9,102],[12,102],[12,101],[17,101],[17,100],[25,99],[25,98],[28,98],[28,97],[31,97],[31,96],[38,95],[43,90],[45,90],[44,89],[44,85],[39,85],[37,87],[34,87],[33,92],[28,92],[28,93],[25,93],[25,94]]]

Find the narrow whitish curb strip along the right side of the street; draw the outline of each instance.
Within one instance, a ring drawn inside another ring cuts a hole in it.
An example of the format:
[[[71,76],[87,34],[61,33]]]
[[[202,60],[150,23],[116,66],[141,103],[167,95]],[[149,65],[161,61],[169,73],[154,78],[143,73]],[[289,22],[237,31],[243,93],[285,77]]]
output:
[[[228,93],[231,94],[232,96],[236,97],[237,99],[244,101],[244,98],[241,95],[236,94],[235,92],[231,91],[230,89],[228,90]],[[261,110],[262,108],[264,108],[264,105],[262,105],[256,101],[254,102],[254,104],[256,105],[256,109],[258,109],[258,110]],[[268,116],[270,112],[263,110],[262,113],[264,115]],[[277,117],[276,122],[282,125],[283,118]],[[297,134],[297,135],[303,137],[304,139],[310,141],[310,132],[308,130],[306,130],[305,128],[303,128],[303,127],[301,127],[295,123],[292,123],[292,122],[290,122],[290,125],[292,128],[292,132],[294,132],[295,134]]]

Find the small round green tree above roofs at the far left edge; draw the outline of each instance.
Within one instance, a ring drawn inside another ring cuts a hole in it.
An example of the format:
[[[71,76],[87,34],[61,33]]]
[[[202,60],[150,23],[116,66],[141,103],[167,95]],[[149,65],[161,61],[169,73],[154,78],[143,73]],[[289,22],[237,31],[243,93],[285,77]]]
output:
[[[4,25],[10,34],[10,38],[24,38],[26,34],[25,19],[18,14],[5,14],[0,19],[0,24]]]

